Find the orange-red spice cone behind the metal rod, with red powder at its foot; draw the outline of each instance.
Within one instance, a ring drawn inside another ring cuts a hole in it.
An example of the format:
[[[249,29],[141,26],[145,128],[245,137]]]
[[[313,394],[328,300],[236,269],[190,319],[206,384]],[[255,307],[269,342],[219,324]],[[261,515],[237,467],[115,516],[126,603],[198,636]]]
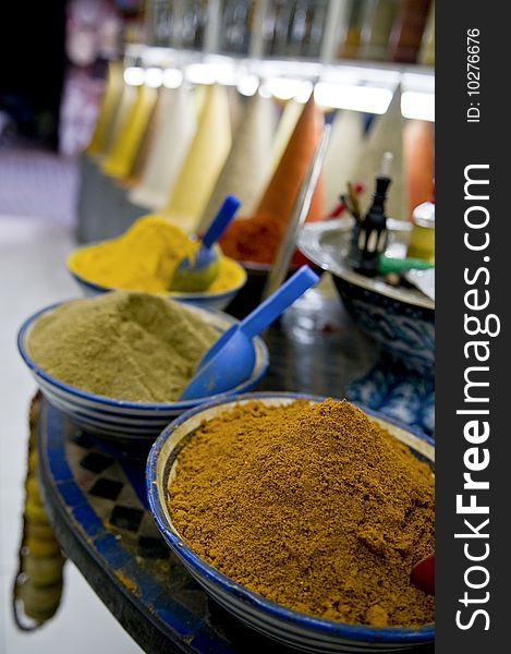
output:
[[[314,102],[314,96],[311,96],[254,215],[246,220],[231,222],[220,239],[220,245],[227,256],[261,264],[273,262],[300,186],[318,144],[323,124],[323,114]],[[319,180],[307,221],[319,220],[323,217],[323,183]],[[293,259],[295,264],[299,261],[303,261],[303,257],[295,256]]]

